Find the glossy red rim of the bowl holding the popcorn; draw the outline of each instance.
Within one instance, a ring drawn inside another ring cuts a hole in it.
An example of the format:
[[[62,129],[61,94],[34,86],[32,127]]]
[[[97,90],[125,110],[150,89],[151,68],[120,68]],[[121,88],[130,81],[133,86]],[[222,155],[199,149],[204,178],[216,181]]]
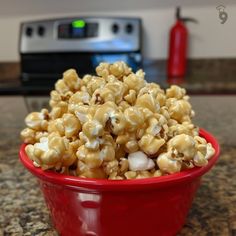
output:
[[[200,136],[204,137],[207,142],[210,142],[215,148],[215,154],[208,161],[208,164],[204,167],[194,167],[192,169],[184,170],[179,173],[165,175],[160,177],[152,177],[145,179],[134,180],[108,180],[108,179],[92,179],[92,178],[80,178],[75,176],[63,175],[51,170],[43,171],[41,168],[37,168],[33,165],[33,162],[28,158],[25,152],[25,146],[22,144],[20,147],[20,160],[23,165],[35,176],[43,181],[63,185],[69,188],[85,188],[93,190],[108,190],[108,191],[121,191],[121,190],[133,190],[133,189],[149,189],[153,187],[169,187],[171,185],[183,184],[194,179],[201,177],[216,163],[219,154],[220,147],[216,138],[204,129],[200,129]]]

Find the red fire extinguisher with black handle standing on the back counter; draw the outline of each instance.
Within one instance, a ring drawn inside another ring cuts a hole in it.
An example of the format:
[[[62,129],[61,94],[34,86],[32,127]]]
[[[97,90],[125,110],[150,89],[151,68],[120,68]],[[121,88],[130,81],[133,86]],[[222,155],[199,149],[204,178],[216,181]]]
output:
[[[190,17],[181,17],[180,7],[176,9],[176,23],[170,30],[169,57],[167,74],[168,78],[184,77],[186,72],[186,55],[188,48],[188,29],[185,23],[197,20]]]

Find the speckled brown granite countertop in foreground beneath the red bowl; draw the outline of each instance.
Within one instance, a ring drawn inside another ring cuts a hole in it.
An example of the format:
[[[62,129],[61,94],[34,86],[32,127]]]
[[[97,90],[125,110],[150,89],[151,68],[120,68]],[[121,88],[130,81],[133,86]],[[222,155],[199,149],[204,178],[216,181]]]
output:
[[[236,96],[192,96],[195,123],[221,144],[216,166],[202,179],[186,224],[187,235],[236,235]],[[18,160],[27,114],[22,96],[0,97],[0,236],[57,235],[36,179]]]

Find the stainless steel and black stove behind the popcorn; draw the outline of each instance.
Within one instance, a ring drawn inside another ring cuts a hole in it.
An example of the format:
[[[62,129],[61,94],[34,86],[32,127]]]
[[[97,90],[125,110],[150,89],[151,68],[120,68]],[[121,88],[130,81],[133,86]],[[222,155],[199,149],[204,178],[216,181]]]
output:
[[[122,60],[142,67],[139,18],[73,17],[21,24],[21,83],[29,90],[51,89],[62,73],[75,68],[94,74],[102,62]]]

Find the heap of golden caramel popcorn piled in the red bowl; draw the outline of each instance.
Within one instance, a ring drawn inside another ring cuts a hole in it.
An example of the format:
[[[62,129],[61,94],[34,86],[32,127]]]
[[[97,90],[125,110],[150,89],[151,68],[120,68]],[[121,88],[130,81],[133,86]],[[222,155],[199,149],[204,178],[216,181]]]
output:
[[[207,165],[215,150],[192,123],[185,89],[164,91],[124,62],[100,63],[96,73],[65,71],[50,93],[51,110],[25,118],[21,138],[36,167],[123,180]]]

